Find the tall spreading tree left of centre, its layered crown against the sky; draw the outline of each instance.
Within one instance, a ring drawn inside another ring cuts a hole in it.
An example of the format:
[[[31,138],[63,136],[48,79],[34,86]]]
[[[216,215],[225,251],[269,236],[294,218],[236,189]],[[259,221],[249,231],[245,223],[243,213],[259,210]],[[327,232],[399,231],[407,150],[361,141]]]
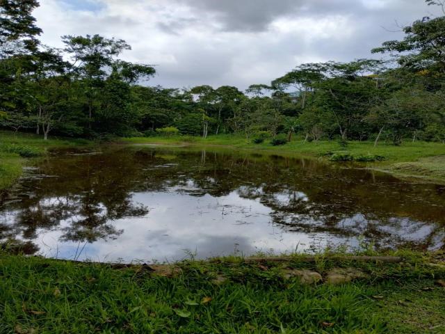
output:
[[[63,36],[63,42],[72,61],[70,75],[81,82],[86,97],[90,133],[95,130],[122,133],[137,121],[137,113],[132,113],[129,107],[129,86],[152,77],[154,67],[119,60],[122,51],[131,49],[124,40],[67,35]]]

